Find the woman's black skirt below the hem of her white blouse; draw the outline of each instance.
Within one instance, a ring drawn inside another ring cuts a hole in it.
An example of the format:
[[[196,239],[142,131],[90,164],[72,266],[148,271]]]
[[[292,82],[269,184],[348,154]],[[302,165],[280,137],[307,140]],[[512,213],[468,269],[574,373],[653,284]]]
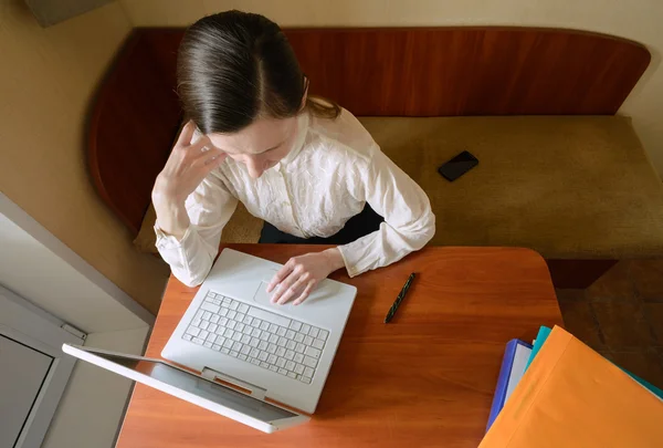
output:
[[[376,213],[372,208],[367,204],[364,210],[359,215],[355,215],[340,229],[336,235],[332,237],[312,237],[312,238],[299,238],[294,237],[290,233],[282,232],[267,221],[263,225],[263,229],[260,233],[261,243],[284,243],[284,244],[347,244],[356,241],[357,239],[372,233],[380,228],[380,223],[385,221],[380,215]]]

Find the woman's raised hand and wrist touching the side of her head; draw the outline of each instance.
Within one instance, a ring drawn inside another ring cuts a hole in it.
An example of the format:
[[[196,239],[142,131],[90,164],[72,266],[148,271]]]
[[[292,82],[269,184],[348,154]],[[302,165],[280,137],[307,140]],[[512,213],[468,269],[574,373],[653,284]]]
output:
[[[191,143],[194,131],[193,122],[185,125],[152,189],[159,227],[178,239],[183,237],[189,227],[185,210],[187,197],[227,157],[207,136]]]

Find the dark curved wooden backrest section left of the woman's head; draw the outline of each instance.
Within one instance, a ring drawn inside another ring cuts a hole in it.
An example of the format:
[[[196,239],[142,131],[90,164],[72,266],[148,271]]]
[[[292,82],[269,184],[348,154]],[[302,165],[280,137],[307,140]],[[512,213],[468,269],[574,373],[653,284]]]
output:
[[[134,236],[182,119],[175,92],[175,54],[180,39],[181,30],[157,34],[134,31],[90,112],[87,163],[92,180]],[[175,49],[168,50],[172,45]]]

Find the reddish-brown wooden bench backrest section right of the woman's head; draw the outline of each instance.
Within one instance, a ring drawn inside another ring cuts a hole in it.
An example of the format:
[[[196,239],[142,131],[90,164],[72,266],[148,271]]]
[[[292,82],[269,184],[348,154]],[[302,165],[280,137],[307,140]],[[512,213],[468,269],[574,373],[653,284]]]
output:
[[[539,28],[287,30],[311,91],[361,116],[613,115],[639,43]]]

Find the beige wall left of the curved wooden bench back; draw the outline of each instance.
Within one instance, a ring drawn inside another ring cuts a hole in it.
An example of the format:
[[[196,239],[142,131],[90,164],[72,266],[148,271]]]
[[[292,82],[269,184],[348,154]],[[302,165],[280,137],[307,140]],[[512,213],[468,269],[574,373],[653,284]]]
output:
[[[0,191],[156,312],[167,269],[97,198],[83,147],[91,95],[129,30],[118,3],[42,29],[22,0],[0,1]]]

